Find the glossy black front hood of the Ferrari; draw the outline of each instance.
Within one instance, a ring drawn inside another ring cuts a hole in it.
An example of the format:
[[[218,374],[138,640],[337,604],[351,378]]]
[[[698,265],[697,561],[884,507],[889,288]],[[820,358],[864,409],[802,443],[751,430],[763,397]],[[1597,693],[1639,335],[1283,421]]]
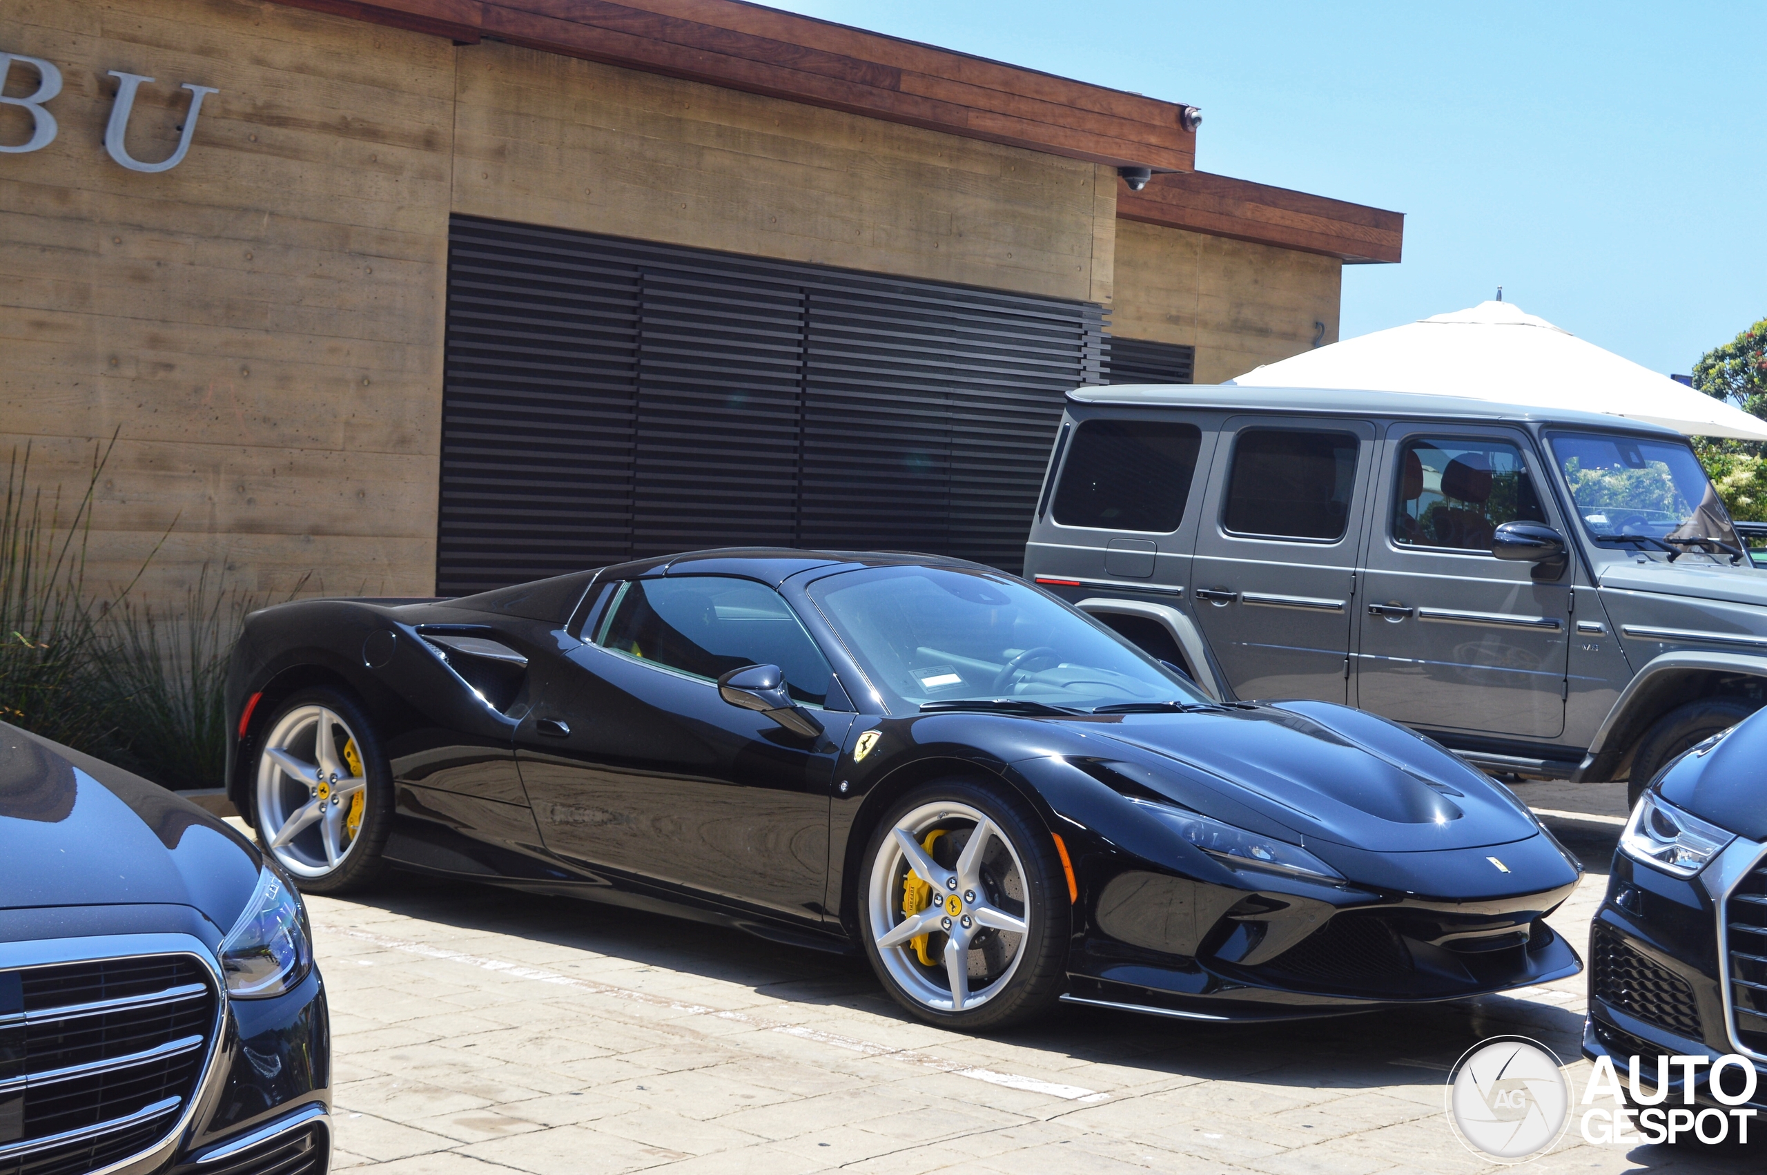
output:
[[[1483,772],[1403,726],[1341,705],[1134,714],[1087,730],[1088,742],[1152,751],[1232,785],[1221,790],[1302,841],[1426,852],[1539,832],[1521,802]]]

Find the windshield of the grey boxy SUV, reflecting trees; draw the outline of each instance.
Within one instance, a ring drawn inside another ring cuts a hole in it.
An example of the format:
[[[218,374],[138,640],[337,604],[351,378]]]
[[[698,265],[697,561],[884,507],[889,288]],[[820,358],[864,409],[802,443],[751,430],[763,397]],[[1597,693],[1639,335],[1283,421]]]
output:
[[[1551,449],[1596,542],[1670,553],[1740,550],[1725,504],[1686,442],[1558,433]]]

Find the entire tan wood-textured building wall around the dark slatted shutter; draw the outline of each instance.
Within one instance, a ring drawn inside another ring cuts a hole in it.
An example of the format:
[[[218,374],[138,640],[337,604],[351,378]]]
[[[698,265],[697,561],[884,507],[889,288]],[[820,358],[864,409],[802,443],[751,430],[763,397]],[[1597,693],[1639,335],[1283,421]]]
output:
[[[1096,163],[267,0],[7,0],[0,49],[65,78],[0,154],[0,458],[76,497],[118,436],[97,585],[433,588],[451,210],[1115,304],[1200,380],[1336,337],[1336,260],[1119,221]],[[106,157],[111,69],[143,159],[219,87],[178,168]]]

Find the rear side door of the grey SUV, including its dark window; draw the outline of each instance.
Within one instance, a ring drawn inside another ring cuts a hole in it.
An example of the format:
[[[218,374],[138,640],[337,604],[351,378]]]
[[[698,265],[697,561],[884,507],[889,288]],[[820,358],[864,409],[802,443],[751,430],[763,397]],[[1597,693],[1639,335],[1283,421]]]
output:
[[[1193,564],[1194,615],[1240,698],[1345,701],[1375,426],[1232,417]]]

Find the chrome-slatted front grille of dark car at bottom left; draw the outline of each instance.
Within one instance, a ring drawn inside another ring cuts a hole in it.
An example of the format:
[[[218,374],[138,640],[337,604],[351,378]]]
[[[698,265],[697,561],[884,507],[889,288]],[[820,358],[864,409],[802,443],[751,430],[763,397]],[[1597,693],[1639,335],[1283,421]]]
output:
[[[196,1094],[216,1012],[191,956],[0,970],[0,1175],[81,1175],[154,1147]]]

